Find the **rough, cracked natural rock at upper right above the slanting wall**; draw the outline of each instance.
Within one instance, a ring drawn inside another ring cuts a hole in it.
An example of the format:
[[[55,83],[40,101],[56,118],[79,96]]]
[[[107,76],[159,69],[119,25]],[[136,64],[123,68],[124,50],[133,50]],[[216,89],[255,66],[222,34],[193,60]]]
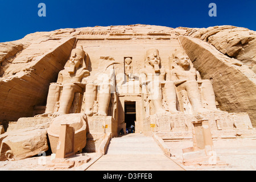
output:
[[[226,56],[242,61],[256,73],[256,32],[234,26],[188,28],[187,35],[212,44]]]

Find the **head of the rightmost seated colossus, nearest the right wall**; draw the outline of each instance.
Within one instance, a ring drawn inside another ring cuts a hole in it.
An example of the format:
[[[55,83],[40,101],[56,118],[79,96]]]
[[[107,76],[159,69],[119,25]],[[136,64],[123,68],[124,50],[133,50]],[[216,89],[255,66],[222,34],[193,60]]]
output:
[[[177,65],[180,67],[189,67],[191,60],[183,49],[175,49],[175,52],[172,54],[172,57]]]

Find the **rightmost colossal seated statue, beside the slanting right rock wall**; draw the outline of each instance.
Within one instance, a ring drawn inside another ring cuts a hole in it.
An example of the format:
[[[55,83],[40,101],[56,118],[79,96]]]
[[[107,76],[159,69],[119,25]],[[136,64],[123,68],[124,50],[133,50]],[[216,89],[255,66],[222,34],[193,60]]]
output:
[[[172,54],[172,69],[167,77],[168,80],[174,81],[178,93],[182,90],[187,92],[193,114],[220,112],[216,107],[212,83],[210,80],[201,80],[199,72],[193,68],[191,60],[183,49],[175,49]]]

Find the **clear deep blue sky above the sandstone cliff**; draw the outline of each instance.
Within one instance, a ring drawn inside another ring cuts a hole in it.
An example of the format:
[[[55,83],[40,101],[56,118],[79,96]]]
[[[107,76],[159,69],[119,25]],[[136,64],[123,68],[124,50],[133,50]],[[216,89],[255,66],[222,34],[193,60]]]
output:
[[[46,17],[39,17],[39,3]],[[217,16],[210,17],[209,3]],[[0,2],[0,42],[18,40],[37,31],[127,24],[167,27],[232,25],[256,31],[256,0],[13,0]]]

